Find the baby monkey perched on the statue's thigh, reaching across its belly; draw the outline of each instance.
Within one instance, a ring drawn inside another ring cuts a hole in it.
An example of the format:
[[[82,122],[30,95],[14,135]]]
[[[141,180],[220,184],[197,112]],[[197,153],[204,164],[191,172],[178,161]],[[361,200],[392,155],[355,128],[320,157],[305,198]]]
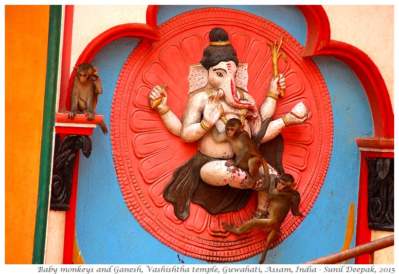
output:
[[[241,186],[254,187],[259,179],[259,168],[263,166],[265,172],[264,184],[269,184],[270,174],[266,160],[262,157],[258,146],[251,139],[244,125],[237,118],[229,119],[226,123],[226,131],[219,133],[216,127],[211,131],[215,142],[230,142],[236,153],[236,159],[230,159],[226,162],[226,166],[236,165],[242,169],[249,171],[248,179],[241,183]]]

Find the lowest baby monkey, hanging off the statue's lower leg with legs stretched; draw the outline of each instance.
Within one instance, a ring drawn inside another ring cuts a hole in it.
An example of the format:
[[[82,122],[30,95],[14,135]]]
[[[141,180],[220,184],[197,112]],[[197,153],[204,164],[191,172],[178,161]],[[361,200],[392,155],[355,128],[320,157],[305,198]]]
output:
[[[279,178],[275,178],[275,180],[275,176],[272,175],[272,177],[268,192],[268,200],[270,201],[268,219],[254,218],[245,222],[240,228],[237,228],[234,223],[227,224],[223,222],[224,229],[237,235],[242,235],[255,228],[265,230],[269,233],[259,261],[260,264],[265,262],[269,246],[273,238],[280,234],[280,225],[286,219],[290,209],[293,215],[303,217],[302,213],[298,210],[300,196],[299,192],[294,189],[296,183],[292,175],[283,173]]]

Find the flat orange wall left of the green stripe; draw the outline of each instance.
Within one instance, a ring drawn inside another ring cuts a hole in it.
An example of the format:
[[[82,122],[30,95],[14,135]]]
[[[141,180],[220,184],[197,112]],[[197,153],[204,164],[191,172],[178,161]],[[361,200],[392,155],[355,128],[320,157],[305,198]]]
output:
[[[5,6],[7,264],[32,263],[49,11],[48,5]]]

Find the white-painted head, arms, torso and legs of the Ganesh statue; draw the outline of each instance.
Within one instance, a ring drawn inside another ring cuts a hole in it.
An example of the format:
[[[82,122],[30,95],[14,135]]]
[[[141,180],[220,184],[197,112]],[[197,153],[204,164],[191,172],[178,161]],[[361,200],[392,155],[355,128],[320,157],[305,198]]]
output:
[[[219,132],[222,132],[225,130],[225,121],[238,118],[243,122],[249,135],[256,136],[262,121],[273,116],[280,91],[286,88],[283,74],[273,78],[268,91],[265,92],[267,96],[258,108],[247,90],[247,68],[248,64],[236,65],[234,61],[221,61],[208,70],[201,64],[190,66],[188,76],[190,97],[182,121],[172,110],[169,110],[167,92],[163,88],[155,86],[149,94],[150,104],[157,99],[160,100],[160,104],[155,109],[159,112],[165,127],[172,134],[180,137],[182,142],[197,142],[202,154],[218,158],[200,169],[200,177],[205,183],[229,184],[235,188],[243,188],[241,183],[247,177],[246,172],[237,167],[225,166],[226,160],[234,156],[233,147],[229,142],[216,143],[210,134],[210,129],[216,127]],[[288,125],[306,122],[308,110],[302,103],[295,106],[293,110],[294,112],[290,111],[284,116],[285,121],[279,118],[270,122],[261,143],[273,139]],[[269,173],[277,174],[277,171],[269,165]],[[259,174],[264,176],[262,168]],[[259,191],[258,195],[264,196],[265,194],[261,192],[263,191]],[[266,204],[262,205],[262,203],[266,203],[267,199],[265,201],[260,198],[258,197],[258,208],[266,209]]]

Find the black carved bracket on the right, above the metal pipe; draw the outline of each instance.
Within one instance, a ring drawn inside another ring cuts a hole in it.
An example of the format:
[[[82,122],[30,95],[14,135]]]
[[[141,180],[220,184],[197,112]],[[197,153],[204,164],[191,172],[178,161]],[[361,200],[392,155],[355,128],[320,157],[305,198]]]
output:
[[[368,227],[394,231],[394,159],[376,158],[368,164]]]

